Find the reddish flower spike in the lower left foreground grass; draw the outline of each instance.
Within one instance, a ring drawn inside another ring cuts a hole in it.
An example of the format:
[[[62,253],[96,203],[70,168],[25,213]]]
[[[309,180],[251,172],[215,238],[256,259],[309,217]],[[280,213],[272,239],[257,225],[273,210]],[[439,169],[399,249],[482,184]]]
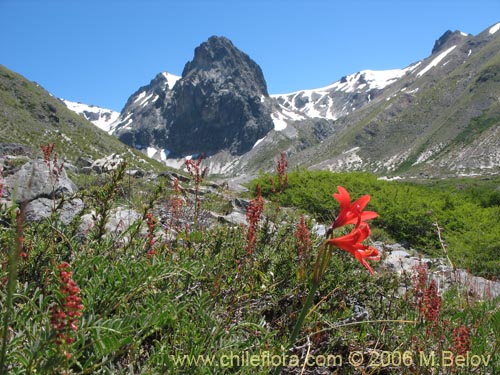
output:
[[[71,332],[78,330],[77,324],[82,315],[83,305],[80,298],[80,288],[71,278],[72,272],[69,264],[63,262],[57,268],[62,300],[52,307],[50,321],[56,332],[55,343],[66,346],[74,342]],[[65,355],[68,358],[71,357],[68,351],[65,351]]]

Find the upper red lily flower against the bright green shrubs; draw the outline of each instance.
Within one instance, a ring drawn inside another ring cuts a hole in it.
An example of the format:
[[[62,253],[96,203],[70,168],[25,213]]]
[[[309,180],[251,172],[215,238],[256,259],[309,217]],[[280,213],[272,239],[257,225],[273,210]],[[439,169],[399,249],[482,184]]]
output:
[[[349,192],[342,186],[337,186],[338,193],[333,197],[340,203],[340,212],[332,224],[331,230],[348,224],[357,224],[358,221],[366,221],[378,217],[374,211],[363,211],[370,201],[369,195],[363,195],[351,203]]]

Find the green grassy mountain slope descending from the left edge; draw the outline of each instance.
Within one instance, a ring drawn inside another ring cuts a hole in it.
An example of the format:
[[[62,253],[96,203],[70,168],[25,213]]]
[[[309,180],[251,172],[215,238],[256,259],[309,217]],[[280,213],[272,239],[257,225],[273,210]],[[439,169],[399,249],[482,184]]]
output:
[[[151,160],[69,110],[42,87],[0,65],[0,143],[32,148],[55,143],[59,155],[75,161],[117,153],[151,169]],[[36,151],[36,150],[33,150]],[[158,165],[154,165],[158,168]]]

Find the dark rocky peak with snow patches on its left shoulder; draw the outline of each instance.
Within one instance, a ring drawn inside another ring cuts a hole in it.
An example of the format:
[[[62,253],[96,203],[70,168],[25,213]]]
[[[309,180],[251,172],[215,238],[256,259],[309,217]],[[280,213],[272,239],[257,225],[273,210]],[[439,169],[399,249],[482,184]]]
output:
[[[114,134],[168,157],[242,155],[274,128],[270,102],[260,67],[214,36],[195,49],[182,77],[161,73],[134,93]]]

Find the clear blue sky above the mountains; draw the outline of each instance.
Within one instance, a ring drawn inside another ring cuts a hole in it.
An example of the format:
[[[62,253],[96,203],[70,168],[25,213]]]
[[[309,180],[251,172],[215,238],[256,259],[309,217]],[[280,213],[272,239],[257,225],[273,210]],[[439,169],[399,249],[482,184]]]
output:
[[[159,72],[181,75],[223,35],[271,94],[404,68],[446,30],[500,22],[498,0],[0,0],[0,64],[55,96],[120,111]]]

